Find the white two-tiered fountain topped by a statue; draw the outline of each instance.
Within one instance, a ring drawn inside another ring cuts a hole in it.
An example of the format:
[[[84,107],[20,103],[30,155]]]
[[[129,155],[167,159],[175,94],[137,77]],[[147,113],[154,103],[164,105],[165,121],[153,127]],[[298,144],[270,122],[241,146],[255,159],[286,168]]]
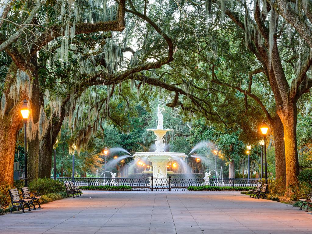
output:
[[[186,157],[184,153],[172,153],[165,152],[164,136],[166,132],[173,131],[173,129],[163,129],[163,114],[158,104],[158,125],[157,129],[147,129],[147,131],[153,131],[156,135],[155,152],[139,152],[134,154],[134,158],[144,158],[144,160],[150,161],[153,168],[153,178],[161,179],[167,178],[167,163],[173,160],[181,161]]]

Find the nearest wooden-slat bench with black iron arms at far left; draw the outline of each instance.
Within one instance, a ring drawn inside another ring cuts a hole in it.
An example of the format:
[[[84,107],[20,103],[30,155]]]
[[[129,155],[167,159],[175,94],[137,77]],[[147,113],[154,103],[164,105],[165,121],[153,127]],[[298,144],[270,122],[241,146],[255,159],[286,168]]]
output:
[[[29,208],[29,211],[31,211],[30,205],[32,205],[34,209],[36,209],[34,204],[32,203],[33,200],[30,198],[29,194],[20,194],[17,188],[9,189],[9,194],[12,203],[12,207],[10,208],[10,214],[12,214],[14,208],[17,208],[18,211],[22,209],[22,213],[25,213],[24,206],[27,206]]]

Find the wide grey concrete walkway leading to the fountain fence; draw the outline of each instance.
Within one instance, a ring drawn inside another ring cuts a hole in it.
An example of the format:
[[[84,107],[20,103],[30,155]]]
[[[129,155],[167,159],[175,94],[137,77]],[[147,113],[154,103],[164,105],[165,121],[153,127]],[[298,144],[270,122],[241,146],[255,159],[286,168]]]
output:
[[[237,192],[84,191],[0,216],[0,233],[312,233],[312,214]]]

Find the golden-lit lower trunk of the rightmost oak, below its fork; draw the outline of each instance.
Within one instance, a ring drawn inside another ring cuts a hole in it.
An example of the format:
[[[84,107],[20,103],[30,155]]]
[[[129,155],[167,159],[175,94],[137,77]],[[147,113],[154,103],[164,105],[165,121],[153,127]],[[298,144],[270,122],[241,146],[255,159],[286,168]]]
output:
[[[286,187],[298,185],[299,161],[297,151],[297,105],[289,102],[281,118],[285,136]]]

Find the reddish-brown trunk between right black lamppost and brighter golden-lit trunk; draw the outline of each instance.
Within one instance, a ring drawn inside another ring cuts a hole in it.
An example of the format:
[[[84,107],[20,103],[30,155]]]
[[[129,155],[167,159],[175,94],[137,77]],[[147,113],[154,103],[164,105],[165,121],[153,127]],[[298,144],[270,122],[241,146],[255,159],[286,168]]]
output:
[[[285,163],[285,144],[284,144],[284,126],[280,117],[275,116],[272,123],[274,131],[275,148],[275,178],[280,179],[281,186],[286,188],[286,163]]]

